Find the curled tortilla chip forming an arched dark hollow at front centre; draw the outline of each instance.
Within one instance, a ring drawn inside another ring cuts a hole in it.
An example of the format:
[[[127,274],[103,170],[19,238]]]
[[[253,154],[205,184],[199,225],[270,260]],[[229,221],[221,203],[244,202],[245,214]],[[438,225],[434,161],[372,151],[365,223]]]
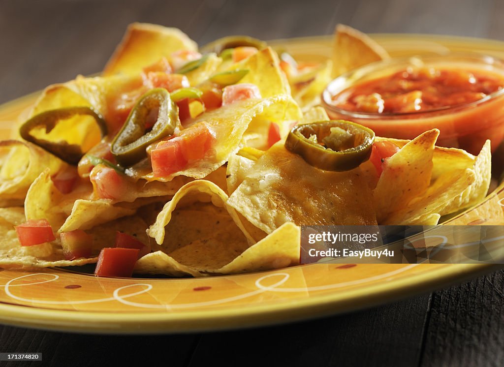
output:
[[[210,181],[190,182],[166,203],[147,234],[177,263],[215,271],[253,243],[227,199]]]

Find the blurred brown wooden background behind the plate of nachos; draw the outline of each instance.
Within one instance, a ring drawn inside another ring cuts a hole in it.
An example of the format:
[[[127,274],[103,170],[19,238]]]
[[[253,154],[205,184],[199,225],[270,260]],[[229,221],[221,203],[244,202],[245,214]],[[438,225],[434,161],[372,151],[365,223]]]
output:
[[[200,45],[246,34],[430,33],[504,40],[501,0],[0,0],[0,103],[99,72],[131,22],[177,27]]]

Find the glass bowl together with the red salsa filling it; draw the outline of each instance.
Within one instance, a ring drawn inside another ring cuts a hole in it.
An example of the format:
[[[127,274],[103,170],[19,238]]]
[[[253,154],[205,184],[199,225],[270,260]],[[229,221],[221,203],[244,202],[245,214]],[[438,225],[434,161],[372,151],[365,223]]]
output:
[[[347,119],[376,135],[412,139],[438,128],[437,144],[478,154],[504,137],[504,62],[490,56],[392,59],[333,80],[322,96],[333,119]]]

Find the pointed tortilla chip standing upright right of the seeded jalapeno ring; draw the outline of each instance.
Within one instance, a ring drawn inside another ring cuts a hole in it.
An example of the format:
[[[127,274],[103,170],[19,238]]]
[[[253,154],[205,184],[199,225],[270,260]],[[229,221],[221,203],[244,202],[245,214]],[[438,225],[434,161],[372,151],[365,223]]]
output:
[[[437,129],[424,132],[405,144],[383,165],[382,175],[373,191],[379,224],[385,221],[392,224],[387,218],[429,187],[434,143],[438,135]]]

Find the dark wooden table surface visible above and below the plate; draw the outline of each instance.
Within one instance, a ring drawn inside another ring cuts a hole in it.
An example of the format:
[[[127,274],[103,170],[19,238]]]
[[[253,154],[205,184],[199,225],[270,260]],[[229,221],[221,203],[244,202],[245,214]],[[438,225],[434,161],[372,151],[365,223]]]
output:
[[[336,23],[504,40],[502,19],[499,0],[0,0],[0,103],[98,72],[133,21],[179,27],[203,44],[229,34],[330,34]],[[106,336],[0,326],[0,352],[42,352],[43,364],[54,366],[500,366],[503,298],[498,271],[347,315],[240,331]]]

